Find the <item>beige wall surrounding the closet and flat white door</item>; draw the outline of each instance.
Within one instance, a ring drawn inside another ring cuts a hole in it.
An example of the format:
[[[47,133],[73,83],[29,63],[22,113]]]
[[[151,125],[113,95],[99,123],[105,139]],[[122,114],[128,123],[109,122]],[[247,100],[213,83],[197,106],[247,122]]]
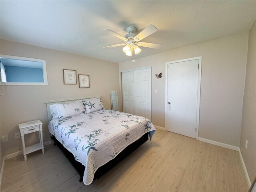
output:
[[[248,32],[119,63],[119,72],[152,66],[152,122],[165,125],[165,62],[202,56],[199,137],[239,146]],[[146,49],[146,48],[145,48]],[[143,51],[143,49],[142,49]],[[162,78],[155,74],[162,72]],[[121,78],[120,92],[121,92]],[[158,89],[158,93],[154,90]]]

